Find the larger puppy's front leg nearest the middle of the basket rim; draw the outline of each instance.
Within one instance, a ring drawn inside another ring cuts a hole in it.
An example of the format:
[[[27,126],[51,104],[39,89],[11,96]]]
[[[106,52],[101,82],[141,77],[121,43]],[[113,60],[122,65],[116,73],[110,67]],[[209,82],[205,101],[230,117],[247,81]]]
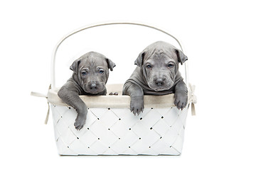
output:
[[[144,93],[140,86],[132,83],[124,84],[122,94],[127,94],[131,97],[130,111],[136,115],[143,112],[144,110]]]

